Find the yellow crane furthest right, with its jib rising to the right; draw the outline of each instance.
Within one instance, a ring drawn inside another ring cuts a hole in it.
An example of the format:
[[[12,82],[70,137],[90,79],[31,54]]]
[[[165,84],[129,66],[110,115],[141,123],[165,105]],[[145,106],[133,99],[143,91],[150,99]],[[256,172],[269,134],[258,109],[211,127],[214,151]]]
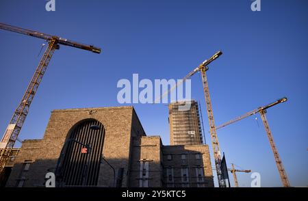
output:
[[[228,126],[229,124],[233,124],[234,122],[238,122],[239,120],[242,120],[242,119],[244,119],[248,116],[252,116],[253,114],[260,113],[261,119],[262,119],[264,127],[266,129],[266,134],[268,135],[268,140],[270,141],[270,147],[272,148],[272,152],[274,154],[274,159],[275,159],[275,162],[276,162],[276,165],[277,165],[277,168],[278,168],[278,172],[279,172],[281,181],[283,183],[283,187],[290,187],[289,180],[287,179],[287,173],[285,172],[285,168],[283,167],[283,163],[282,163],[281,158],[279,156],[277,147],[274,144],[274,139],[272,137],[272,132],[270,131],[270,126],[268,124],[268,120],[266,120],[266,109],[268,109],[268,108],[270,108],[274,105],[277,105],[279,103],[283,103],[285,101],[287,101],[286,97],[280,98],[279,100],[276,100],[273,103],[270,103],[268,105],[258,107],[257,109],[254,109],[253,111],[249,111],[247,113],[244,113],[242,116],[234,118],[233,120],[230,120],[229,122],[225,122],[224,124],[221,124],[220,126],[217,126],[216,130],[221,129],[224,126]]]

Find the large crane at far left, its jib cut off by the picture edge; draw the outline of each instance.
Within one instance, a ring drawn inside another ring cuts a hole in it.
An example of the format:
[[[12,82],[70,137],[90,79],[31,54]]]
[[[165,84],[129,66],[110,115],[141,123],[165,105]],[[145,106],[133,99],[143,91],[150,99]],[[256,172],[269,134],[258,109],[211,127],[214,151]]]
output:
[[[16,32],[19,34],[24,34],[27,36],[33,36],[48,41],[48,46],[44,51],[42,58],[40,59],[40,63],[38,64],[29,85],[27,86],[27,90],[25,91],[25,94],[21,99],[21,103],[19,103],[18,107],[14,111],[10,123],[8,124],[8,127],[5,130],[5,133],[1,139],[0,142],[0,173],[1,173],[3,168],[5,167],[6,161],[8,161],[10,152],[12,151],[12,148],[14,147],[16,140],[18,140],[17,138],[18,134],[20,133],[21,127],[25,122],[25,118],[29,113],[29,107],[32,103],[34,95],[36,94],[36,91],[38,90],[38,86],[42,81],[44,72],[47,69],[47,66],[51,60],[51,57],[55,49],[60,49],[60,44],[66,46],[73,46],[75,48],[84,49],[86,51],[92,51],[93,53],[101,53],[101,49],[92,45],[73,42],[71,40],[67,40],[66,38],[51,36],[49,34],[42,34],[38,31],[31,31],[29,29],[14,27],[12,25],[6,25],[3,23],[0,23],[0,29]]]

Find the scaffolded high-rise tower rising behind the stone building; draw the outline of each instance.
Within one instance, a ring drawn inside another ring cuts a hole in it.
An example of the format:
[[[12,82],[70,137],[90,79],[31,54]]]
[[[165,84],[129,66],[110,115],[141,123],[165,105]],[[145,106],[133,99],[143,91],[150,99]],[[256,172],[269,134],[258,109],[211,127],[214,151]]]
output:
[[[170,145],[203,144],[198,103],[195,100],[170,103]]]

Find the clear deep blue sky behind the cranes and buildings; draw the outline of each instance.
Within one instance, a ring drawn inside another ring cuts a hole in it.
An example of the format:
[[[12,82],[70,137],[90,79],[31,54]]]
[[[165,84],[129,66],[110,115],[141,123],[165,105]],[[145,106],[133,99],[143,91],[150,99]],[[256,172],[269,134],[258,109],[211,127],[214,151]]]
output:
[[[56,0],[56,11],[47,12],[46,1],[1,0],[2,23],[103,49],[101,55],[67,46],[55,52],[20,138],[41,138],[53,109],[120,106],[119,79],[131,80],[133,73],[140,79],[181,79],[222,50],[207,71],[216,124],[287,96],[286,103],[268,109],[268,121],[290,183],[307,186],[308,1],[261,0],[261,12],[252,12],[251,2]],[[0,30],[1,132],[43,42]],[[199,75],[192,77],[192,88],[208,130]],[[168,107],[133,106],[147,135],[161,135],[169,144]],[[281,186],[259,115],[257,122],[253,116],[218,131],[218,137],[228,164],[259,172],[264,187]],[[239,173],[238,179],[240,186],[250,186],[250,174]]]

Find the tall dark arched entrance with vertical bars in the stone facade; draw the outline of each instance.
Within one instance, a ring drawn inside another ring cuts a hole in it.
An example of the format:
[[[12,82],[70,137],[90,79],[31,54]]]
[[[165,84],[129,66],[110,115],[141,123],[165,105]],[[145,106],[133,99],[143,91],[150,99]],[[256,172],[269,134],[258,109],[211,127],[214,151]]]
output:
[[[55,172],[60,186],[97,185],[104,135],[103,124],[94,119],[73,126]]]

